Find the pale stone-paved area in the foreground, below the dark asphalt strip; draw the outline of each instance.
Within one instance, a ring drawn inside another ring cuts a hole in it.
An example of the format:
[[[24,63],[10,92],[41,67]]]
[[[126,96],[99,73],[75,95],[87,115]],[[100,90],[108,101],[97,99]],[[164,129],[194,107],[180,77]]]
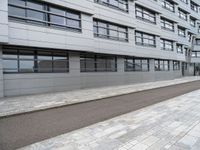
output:
[[[200,90],[19,150],[199,150]]]

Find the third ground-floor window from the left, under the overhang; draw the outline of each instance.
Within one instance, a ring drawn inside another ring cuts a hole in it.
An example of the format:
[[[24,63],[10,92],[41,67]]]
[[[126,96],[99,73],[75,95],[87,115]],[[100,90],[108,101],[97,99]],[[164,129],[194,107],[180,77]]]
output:
[[[146,58],[125,58],[125,71],[149,71],[149,59]]]

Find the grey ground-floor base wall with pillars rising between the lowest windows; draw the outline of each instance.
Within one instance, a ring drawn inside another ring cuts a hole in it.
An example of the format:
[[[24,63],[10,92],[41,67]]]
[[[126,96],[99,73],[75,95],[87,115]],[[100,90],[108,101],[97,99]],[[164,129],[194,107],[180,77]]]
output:
[[[155,72],[153,59],[150,60],[149,72],[124,72],[124,60],[123,58],[118,58],[117,72],[80,73],[79,54],[70,53],[69,61],[69,73],[4,74],[4,95],[18,96],[69,91],[83,88],[168,80],[182,76],[181,70],[173,71],[171,69],[170,71]]]

